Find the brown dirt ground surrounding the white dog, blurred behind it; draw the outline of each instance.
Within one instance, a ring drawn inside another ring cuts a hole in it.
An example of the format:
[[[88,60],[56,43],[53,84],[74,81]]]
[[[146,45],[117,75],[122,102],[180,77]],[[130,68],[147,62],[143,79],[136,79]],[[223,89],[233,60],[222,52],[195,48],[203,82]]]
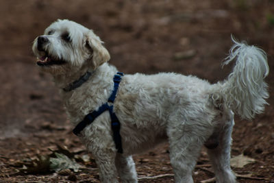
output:
[[[177,72],[210,82],[231,69],[221,62],[233,34],[268,53],[269,106],[253,121],[236,118],[232,157],[256,161],[232,167],[238,182],[274,182],[274,1],[273,0],[12,0],[0,1],[0,182],[99,182],[90,156],[74,173],[22,173],[23,162],[66,149],[86,155],[71,132],[51,77],[38,71],[32,41],[56,19],[93,29],[124,73]],[[134,156],[139,182],[174,182],[167,144]],[[147,178],[162,175],[159,178]],[[145,176],[145,178],[143,178]],[[214,177],[205,149],[195,182]]]

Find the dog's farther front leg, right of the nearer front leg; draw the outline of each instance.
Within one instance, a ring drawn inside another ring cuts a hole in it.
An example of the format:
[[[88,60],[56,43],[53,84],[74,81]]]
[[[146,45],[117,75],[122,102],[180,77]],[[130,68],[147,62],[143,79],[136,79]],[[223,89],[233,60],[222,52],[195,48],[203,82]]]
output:
[[[135,163],[132,156],[123,156],[123,154],[116,155],[116,169],[120,175],[121,182],[134,183],[138,182]]]

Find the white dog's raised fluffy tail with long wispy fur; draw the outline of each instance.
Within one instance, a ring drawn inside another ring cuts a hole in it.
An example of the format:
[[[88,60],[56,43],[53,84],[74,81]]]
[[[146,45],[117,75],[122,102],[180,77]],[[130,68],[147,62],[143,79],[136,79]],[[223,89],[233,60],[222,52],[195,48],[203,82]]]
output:
[[[243,119],[263,112],[269,97],[264,78],[269,74],[266,53],[258,47],[237,42],[223,64],[236,64],[227,80],[221,84],[223,102]]]

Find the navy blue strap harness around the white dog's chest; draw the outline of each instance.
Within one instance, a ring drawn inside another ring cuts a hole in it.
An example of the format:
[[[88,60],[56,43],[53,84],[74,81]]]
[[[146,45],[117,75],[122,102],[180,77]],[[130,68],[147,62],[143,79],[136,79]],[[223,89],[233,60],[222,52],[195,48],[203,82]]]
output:
[[[117,90],[119,88],[119,84],[121,82],[121,77],[123,76],[123,73],[116,73],[114,75],[113,81],[114,81],[114,88],[112,90],[112,94],[110,95],[110,98],[108,99],[108,102],[104,103],[102,106],[99,107],[98,110],[95,110],[93,112],[90,112],[89,114],[84,117],[84,120],[78,123],[78,125],[73,129],[73,133],[77,136],[79,136],[80,132],[84,130],[84,128],[87,125],[90,125],[97,117],[99,117],[105,110],[108,110],[110,112],[110,119],[111,119],[111,126],[113,131],[113,139],[116,146],[116,149],[119,153],[123,154],[123,148],[122,148],[122,140],[120,135],[120,121],[116,117],[116,114],[113,112],[113,103],[116,98]],[[108,105],[108,103],[112,103],[112,105]]]

